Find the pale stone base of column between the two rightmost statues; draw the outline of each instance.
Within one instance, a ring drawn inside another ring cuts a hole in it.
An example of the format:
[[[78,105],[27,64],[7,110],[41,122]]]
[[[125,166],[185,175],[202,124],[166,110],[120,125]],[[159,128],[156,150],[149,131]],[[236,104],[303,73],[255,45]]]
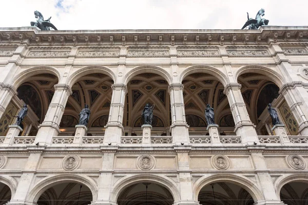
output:
[[[255,127],[256,126],[252,123],[238,123],[235,126],[234,132],[236,135],[241,136],[242,144],[254,145],[255,142],[259,143],[259,138]]]

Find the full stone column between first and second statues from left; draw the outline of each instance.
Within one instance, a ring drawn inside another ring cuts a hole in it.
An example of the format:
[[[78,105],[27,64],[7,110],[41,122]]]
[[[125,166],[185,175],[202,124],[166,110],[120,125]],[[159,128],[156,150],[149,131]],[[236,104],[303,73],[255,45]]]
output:
[[[54,85],[54,94],[49,105],[43,123],[38,126],[35,142],[40,145],[50,145],[52,137],[60,133],[59,125],[66,106],[69,95],[72,94],[71,88],[67,84]]]

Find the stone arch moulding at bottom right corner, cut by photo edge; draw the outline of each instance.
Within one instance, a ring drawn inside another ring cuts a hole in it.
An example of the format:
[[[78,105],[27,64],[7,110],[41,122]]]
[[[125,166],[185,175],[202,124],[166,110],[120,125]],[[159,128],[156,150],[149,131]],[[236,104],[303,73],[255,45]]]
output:
[[[308,183],[308,174],[293,174],[288,176],[279,177],[274,183],[276,195],[280,199],[280,191],[284,185],[290,182],[306,182]]]

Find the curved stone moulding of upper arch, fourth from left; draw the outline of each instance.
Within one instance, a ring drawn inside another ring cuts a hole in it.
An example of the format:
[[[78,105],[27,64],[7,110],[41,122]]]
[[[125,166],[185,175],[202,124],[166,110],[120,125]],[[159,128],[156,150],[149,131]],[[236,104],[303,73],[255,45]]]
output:
[[[228,77],[219,69],[212,67],[212,66],[206,66],[206,65],[198,65],[198,66],[190,66],[186,68],[181,74],[180,74],[180,82],[182,83],[183,79],[192,73],[208,73],[210,75],[213,75],[216,77],[220,83],[225,87],[229,83]]]

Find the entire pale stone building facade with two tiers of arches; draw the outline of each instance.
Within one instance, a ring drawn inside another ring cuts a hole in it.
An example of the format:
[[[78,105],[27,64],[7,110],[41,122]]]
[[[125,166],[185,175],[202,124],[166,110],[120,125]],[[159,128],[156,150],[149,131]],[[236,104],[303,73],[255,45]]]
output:
[[[307,203],[308,27],[1,28],[0,71],[0,204]]]

